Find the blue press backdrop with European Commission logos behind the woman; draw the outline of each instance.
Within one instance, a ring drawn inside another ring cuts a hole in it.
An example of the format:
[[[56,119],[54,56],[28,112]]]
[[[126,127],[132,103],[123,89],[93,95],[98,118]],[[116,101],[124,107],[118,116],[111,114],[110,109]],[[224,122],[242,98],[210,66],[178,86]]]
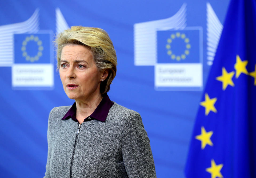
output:
[[[0,1],[0,177],[44,175],[49,112],[74,102],[63,91],[52,41],[73,25],[109,33],[118,60],[110,99],[141,114],[157,177],[185,177],[194,120],[228,5],[229,0]]]

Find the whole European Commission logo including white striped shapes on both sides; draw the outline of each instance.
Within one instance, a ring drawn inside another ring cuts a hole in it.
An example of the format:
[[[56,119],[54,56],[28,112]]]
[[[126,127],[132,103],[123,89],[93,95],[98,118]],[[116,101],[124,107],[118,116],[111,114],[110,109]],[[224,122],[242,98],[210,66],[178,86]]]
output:
[[[222,30],[216,22],[218,18],[207,3],[208,65],[212,64]],[[155,90],[200,91],[202,32],[202,27],[186,27],[186,3],[170,18],[134,24],[134,65],[154,66]]]

